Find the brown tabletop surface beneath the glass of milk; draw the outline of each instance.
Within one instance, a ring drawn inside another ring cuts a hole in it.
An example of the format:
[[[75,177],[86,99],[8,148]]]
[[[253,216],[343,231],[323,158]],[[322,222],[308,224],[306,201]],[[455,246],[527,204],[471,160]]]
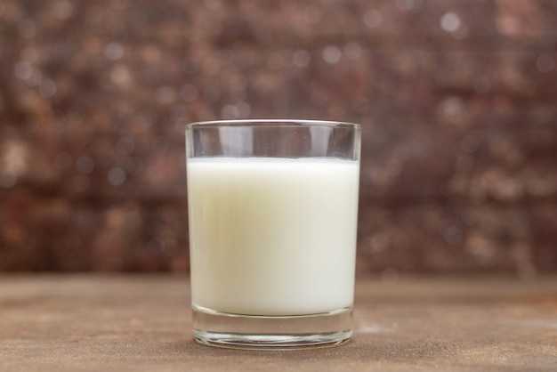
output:
[[[191,339],[186,276],[3,274],[0,370],[557,371],[557,278],[357,280],[354,336],[291,352]]]

